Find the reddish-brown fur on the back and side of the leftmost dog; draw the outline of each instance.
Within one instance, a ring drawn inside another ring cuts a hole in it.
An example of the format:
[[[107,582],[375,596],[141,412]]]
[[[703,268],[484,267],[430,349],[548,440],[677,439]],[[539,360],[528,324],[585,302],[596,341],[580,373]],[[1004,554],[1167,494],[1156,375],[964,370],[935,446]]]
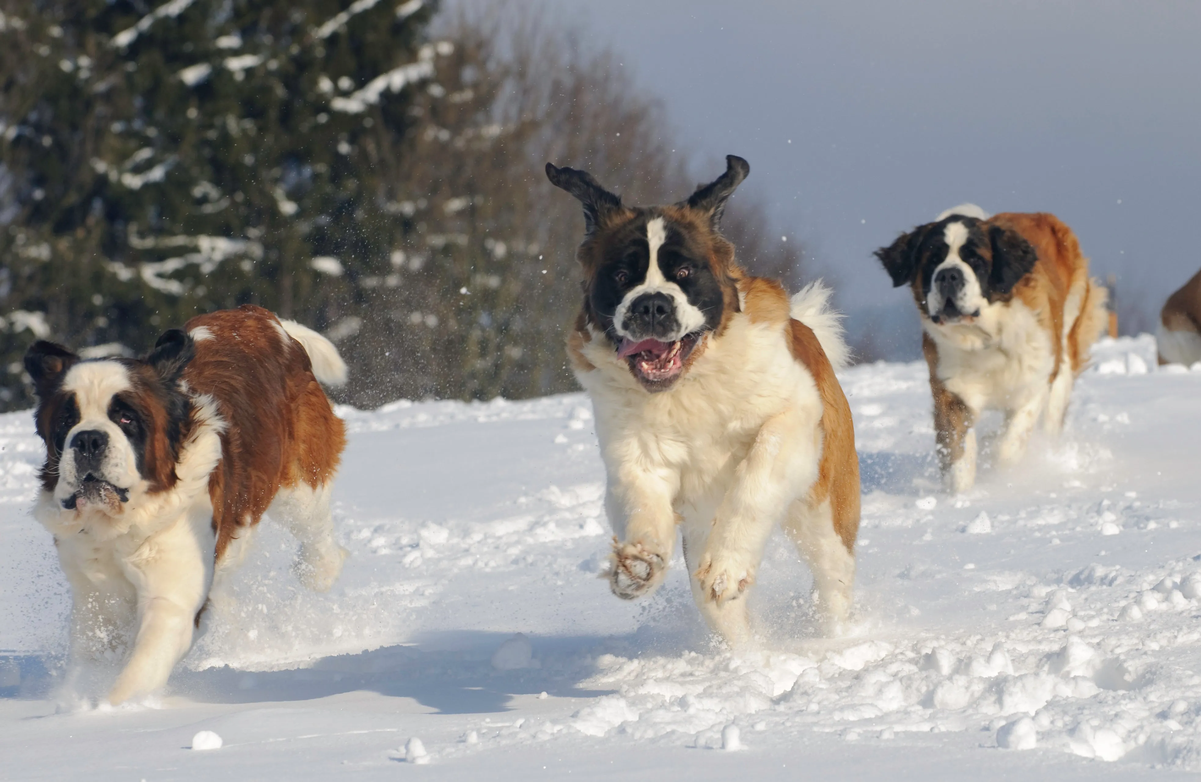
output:
[[[184,380],[209,394],[227,426],[209,478],[217,560],[238,527],[258,524],[280,489],[330,480],[346,446],[342,420],[312,375],[309,354],[275,316],[244,305],[192,318],[213,339],[196,344]]]

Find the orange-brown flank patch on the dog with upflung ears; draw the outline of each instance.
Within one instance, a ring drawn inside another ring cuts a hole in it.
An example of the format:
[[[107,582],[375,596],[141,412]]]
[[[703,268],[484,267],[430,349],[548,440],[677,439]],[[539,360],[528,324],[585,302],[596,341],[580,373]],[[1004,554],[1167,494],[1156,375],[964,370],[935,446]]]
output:
[[[809,503],[817,507],[830,500],[833,530],[847,550],[854,553],[860,515],[859,454],[850,405],[813,329],[800,321],[789,321],[789,328],[793,358],[809,370],[821,395],[821,462],[818,480],[809,490]]]

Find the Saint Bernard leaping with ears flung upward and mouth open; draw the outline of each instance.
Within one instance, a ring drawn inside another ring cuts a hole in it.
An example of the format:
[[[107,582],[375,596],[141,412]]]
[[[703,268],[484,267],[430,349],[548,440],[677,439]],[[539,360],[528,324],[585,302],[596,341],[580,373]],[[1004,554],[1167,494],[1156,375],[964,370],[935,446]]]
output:
[[[616,533],[617,597],[663,583],[676,526],[693,597],[731,646],[752,640],[747,593],[779,524],[808,561],[830,632],[848,616],[859,460],[835,371],[847,362],[830,292],[791,303],[748,276],[718,225],[749,166],[673,205],[626,207],[582,171],[546,165],[584,204],[584,304],[568,334],[592,398]]]

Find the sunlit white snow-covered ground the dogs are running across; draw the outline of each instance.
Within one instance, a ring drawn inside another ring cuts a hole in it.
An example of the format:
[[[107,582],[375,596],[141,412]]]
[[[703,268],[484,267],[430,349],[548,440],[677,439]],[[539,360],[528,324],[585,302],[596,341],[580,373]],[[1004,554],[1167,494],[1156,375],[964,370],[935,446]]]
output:
[[[613,597],[584,396],[401,401],[340,411],[352,557],[329,595],[299,586],[267,521],[160,702],[62,714],[66,586],[28,514],[41,446],[28,413],[2,416],[0,778],[1201,770],[1201,368],[1157,371],[1149,336],[1105,342],[1064,438],[960,497],[938,488],[925,366],[842,378],[865,494],[849,638],[813,635],[781,537],[760,651],[712,645],[679,557],[651,599]],[[201,730],[225,746],[190,750]]]

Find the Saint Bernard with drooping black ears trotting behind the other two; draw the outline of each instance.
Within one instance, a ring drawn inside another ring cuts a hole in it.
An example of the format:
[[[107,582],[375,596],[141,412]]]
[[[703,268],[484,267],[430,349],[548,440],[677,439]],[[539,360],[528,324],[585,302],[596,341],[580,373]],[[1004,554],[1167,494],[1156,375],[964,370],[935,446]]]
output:
[[[1107,292],[1054,215],[949,209],[876,257],[921,318],[939,464],[951,491],[975,483],[982,411],[1005,413],[997,460],[1012,464],[1042,419],[1059,432],[1071,387],[1105,326]]]

